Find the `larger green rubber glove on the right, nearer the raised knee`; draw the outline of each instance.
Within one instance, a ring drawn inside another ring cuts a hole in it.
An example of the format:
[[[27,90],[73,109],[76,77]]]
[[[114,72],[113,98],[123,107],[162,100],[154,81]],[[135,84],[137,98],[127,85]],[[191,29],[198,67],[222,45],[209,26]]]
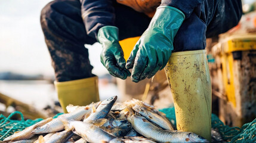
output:
[[[127,69],[132,69],[131,80],[151,78],[164,69],[173,50],[173,39],[185,15],[174,7],[156,9],[149,27],[140,37],[127,60]]]

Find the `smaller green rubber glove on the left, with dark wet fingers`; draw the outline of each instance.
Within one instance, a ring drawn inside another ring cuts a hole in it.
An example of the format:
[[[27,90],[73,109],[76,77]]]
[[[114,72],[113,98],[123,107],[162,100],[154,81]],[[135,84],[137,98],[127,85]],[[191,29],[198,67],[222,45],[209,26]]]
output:
[[[104,26],[98,30],[98,42],[102,44],[100,61],[112,76],[126,79],[131,76],[125,69],[124,52],[119,44],[118,27]]]

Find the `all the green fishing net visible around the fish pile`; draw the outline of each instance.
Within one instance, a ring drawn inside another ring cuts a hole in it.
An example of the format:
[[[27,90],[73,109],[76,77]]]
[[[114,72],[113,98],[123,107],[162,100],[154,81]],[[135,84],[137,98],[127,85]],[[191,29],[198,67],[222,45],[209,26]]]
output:
[[[172,108],[164,108],[159,111],[162,111],[166,114],[169,120],[176,126],[175,119],[175,110]],[[21,120],[11,120],[11,117],[14,114],[20,114]],[[56,114],[53,118],[58,117],[60,114]],[[14,111],[10,116],[5,117],[2,114],[0,115],[0,141],[7,138],[7,136],[12,135],[14,132],[23,130],[28,126],[31,126],[37,122],[40,122],[42,119],[36,120],[24,120],[23,114],[19,111]],[[246,123],[242,128],[233,127],[224,125],[220,119],[215,114],[212,114],[212,128],[217,129],[223,140],[226,142],[256,142],[256,119],[251,123]]]

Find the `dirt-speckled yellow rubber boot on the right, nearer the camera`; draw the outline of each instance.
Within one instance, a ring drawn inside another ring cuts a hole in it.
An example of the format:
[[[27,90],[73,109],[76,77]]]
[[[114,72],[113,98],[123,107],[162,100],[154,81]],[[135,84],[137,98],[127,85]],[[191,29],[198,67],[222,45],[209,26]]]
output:
[[[205,50],[174,52],[165,67],[177,129],[211,141],[211,79]]]

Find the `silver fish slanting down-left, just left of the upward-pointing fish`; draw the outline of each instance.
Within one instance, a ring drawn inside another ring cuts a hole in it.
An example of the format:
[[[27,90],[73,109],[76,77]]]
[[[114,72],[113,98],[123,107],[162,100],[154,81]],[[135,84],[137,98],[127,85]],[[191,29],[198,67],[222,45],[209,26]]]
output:
[[[53,119],[51,122],[36,128],[32,131],[34,134],[41,133],[50,133],[50,132],[58,132],[64,129],[64,125],[61,122],[60,118],[69,119],[69,120],[82,120],[88,113],[91,113],[91,107],[86,106],[85,108],[77,108],[77,110],[72,113],[62,114],[57,118]]]

